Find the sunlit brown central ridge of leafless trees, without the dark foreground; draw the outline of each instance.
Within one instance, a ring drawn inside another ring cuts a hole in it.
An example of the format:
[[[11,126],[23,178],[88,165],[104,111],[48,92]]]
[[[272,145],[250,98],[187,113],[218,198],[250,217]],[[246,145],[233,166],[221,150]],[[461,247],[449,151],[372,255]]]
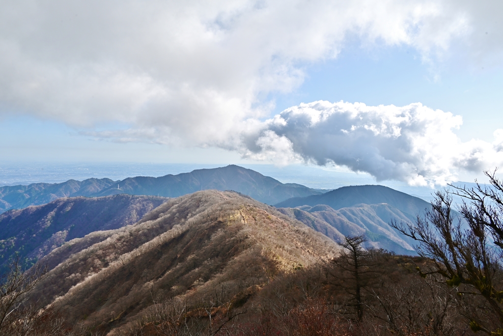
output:
[[[165,302],[166,312],[195,307],[181,310],[186,320],[238,311],[272,279],[326,262],[338,249],[265,204],[201,191],[167,201],[134,225],[54,249],[41,261],[50,272],[33,297],[67,321],[122,335],[147,328],[161,309],[155,302]]]

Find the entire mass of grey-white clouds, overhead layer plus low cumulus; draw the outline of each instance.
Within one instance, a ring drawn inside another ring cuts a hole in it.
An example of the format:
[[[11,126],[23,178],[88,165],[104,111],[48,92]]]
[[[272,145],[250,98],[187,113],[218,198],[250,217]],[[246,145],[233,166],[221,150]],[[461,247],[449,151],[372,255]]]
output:
[[[299,106],[264,123],[273,102],[261,97],[299,87],[306,64],[336,58],[355,36],[368,47],[411,46],[426,62],[448,57],[453,46],[475,62],[497,61],[501,2],[19,0],[0,6],[0,116],[28,114],[100,138],[219,146],[275,162],[333,160],[411,183],[453,174],[434,147],[442,142],[429,140],[435,118],[448,127],[445,141],[465,148],[451,160],[460,169],[482,165],[485,159],[476,157],[492,146],[461,144],[450,133],[459,118],[425,117],[432,112],[419,105],[397,108],[409,111],[401,116],[391,107],[356,104],[347,108],[358,113],[326,112],[327,121],[314,124]],[[352,113],[364,121],[355,123]],[[96,131],[110,123],[129,129]],[[316,128],[319,134],[310,133]],[[325,146],[323,152],[323,137],[348,150]]]

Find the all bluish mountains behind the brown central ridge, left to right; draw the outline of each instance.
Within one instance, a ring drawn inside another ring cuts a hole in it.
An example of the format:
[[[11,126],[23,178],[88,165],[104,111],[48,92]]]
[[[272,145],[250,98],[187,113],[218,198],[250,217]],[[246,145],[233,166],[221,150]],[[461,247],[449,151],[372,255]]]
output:
[[[384,248],[404,255],[415,254],[414,242],[399,234],[389,223],[392,220],[414,221],[417,214],[430,207],[426,201],[383,186],[349,186],[321,194],[301,185],[282,184],[235,165],[119,182],[88,179],[2,187],[4,200],[18,205],[56,200],[0,214],[0,265],[5,266],[14,253],[29,265],[73,238],[130,225],[168,199],[129,194],[179,195],[196,188],[233,188],[251,198],[268,200],[309,194],[286,199],[276,207],[284,215],[336,242],[348,235],[365,235],[365,247]],[[57,198],[60,195],[77,197]]]

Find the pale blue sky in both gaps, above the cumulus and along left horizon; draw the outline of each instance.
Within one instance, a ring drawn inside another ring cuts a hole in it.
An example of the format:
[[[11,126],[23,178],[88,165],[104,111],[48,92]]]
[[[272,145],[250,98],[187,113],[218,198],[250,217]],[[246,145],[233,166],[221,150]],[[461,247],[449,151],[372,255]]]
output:
[[[475,69],[447,62],[441,65],[439,71],[433,71],[412,48],[382,47],[371,52],[353,45],[346,47],[337,59],[305,65],[307,77],[294,92],[271,94],[268,98],[276,102],[274,113],[317,100],[397,106],[421,102],[433,109],[461,115],[463,126],[456,133],[464,141],[471,138],[491,141],[492,132],[503,127],[501,67]],[[435,76],[439,78],[436,80]],[[0,123],[3,158],[21,161],[32,160],[34,156],[38,160],[71,161],[112,158],[128,162],[134,153],[134,160],[140,162],[248,162],[241,160],[237,153],[225,150],[118,144],[96,141],[78,132],[79,128],[54,120],[6,116]]]

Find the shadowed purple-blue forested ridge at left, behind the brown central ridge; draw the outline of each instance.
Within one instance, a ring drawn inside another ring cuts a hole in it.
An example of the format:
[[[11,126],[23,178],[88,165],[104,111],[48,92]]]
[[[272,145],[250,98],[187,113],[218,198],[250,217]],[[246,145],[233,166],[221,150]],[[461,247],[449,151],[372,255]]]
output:
[[[73,238],[134,224],[167,200],[125,194],[59,198],[0,214],[0,271],[16,253],[23,264],[30,265]]]

